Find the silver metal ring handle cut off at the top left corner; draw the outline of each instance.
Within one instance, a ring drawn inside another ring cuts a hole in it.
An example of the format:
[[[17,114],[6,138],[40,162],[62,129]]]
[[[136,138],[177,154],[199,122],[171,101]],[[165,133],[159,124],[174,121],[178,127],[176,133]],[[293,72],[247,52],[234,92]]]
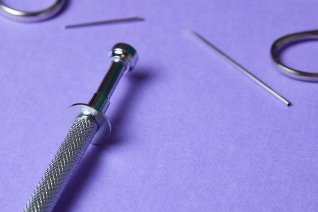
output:
[[[44,21],[55,16],[61,11],[67,0],[56,0],[56,2],[49,8],[35,11],[25,12],[20,10],[12,9],[6,6],[2,0],[0,0],[0,13],[4,14],[10,19],[23,22],[37,22]]]

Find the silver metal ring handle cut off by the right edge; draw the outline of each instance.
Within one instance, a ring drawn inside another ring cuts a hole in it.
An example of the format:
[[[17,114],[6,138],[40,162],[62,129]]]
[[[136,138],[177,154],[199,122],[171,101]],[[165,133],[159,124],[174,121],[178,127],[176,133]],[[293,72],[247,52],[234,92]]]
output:
[[[302,72],[301,70],[296,70],[294,68],[291,68],[283,64],[279,58],[280,52],[284,48],[291,46],[295,43],[310,41],[310,40],[318,40],[318,30],[288,34],[287,36],[277,39],[272,44],[271,57],[274,62],[274,65],[278,68],[278,70],[282,74],[287,75],[288,77],[291,77],[296,80],[318,82],[318,73],[309,73],[309,72]]]

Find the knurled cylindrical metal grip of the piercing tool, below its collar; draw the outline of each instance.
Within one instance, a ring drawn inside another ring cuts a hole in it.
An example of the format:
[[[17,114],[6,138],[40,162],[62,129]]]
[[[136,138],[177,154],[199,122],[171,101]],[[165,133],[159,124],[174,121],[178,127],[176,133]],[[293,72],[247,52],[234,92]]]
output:
[[[97,131],[97,124],[79,116],[63,140],[23,211],[51,211]]]

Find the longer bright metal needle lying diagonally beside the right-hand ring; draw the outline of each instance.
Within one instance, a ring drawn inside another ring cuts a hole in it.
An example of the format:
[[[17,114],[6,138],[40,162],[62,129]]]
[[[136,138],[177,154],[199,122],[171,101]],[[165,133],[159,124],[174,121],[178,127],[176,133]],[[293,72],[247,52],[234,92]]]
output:
[[[219,55],[221,55],[222,57],[224,57],[227,61],[229,61],[232,65],[234,65],[237,69],[239,69],[242,73],[244,73],[247,77],[249,77],[250,79],[252,79],[254,82],[256,82],[257,84],[259,84],[260,86],[262,86],[263,88],[265,88],[268,92],[270,92],[271,94],[273,94],[276,98],[278,98],[280,101],[282,101],[283,103],[285,103],[286,105],[291,105],[291,102],[289,102],[287,99],[285,99],[284,97],[282,97],[281,95],[279,95],[276,91],[274,91],[273,89],[271,89],[268,85],[266,85],[265,83],[263,83],[261,80],[259,80],[257,77],[255,77],[254,75],[252,75],[250,72],[248,72],[248,70],[246,70],[244,67],[242,67],[240,64],[238,64],[237,62],[235,62],[233,59],[231,59],[228,55],[226,55],[224,52],[222,52],[221,50],[219,50],[218,48],[216,48],[213,44],[211,44],[210,42],[208,42],[205,38],[203,38],[202,36],[200,36],[200,34],[198,34],[197,32],[191,30],[191,29],[187,29],[190,33],[192,33],[195,37],[197,37],[199,40],[201,40],[202,42],[204,42],[206,45],[208,45],[209,47],[211,47],[216,53],[218,53]]]

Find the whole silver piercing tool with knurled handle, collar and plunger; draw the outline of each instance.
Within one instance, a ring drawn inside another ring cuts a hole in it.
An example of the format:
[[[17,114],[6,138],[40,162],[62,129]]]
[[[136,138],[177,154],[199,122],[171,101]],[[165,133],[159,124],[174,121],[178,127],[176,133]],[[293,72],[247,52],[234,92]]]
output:
[[[100,143],[110,134],[104,113],[119,79],[134,68],[138,55],[132,46],[119,43],[109,57],[108,72],[89,103],[74,104],[67,110],[74,123],[23,211],[51,211],[89,144]]]

